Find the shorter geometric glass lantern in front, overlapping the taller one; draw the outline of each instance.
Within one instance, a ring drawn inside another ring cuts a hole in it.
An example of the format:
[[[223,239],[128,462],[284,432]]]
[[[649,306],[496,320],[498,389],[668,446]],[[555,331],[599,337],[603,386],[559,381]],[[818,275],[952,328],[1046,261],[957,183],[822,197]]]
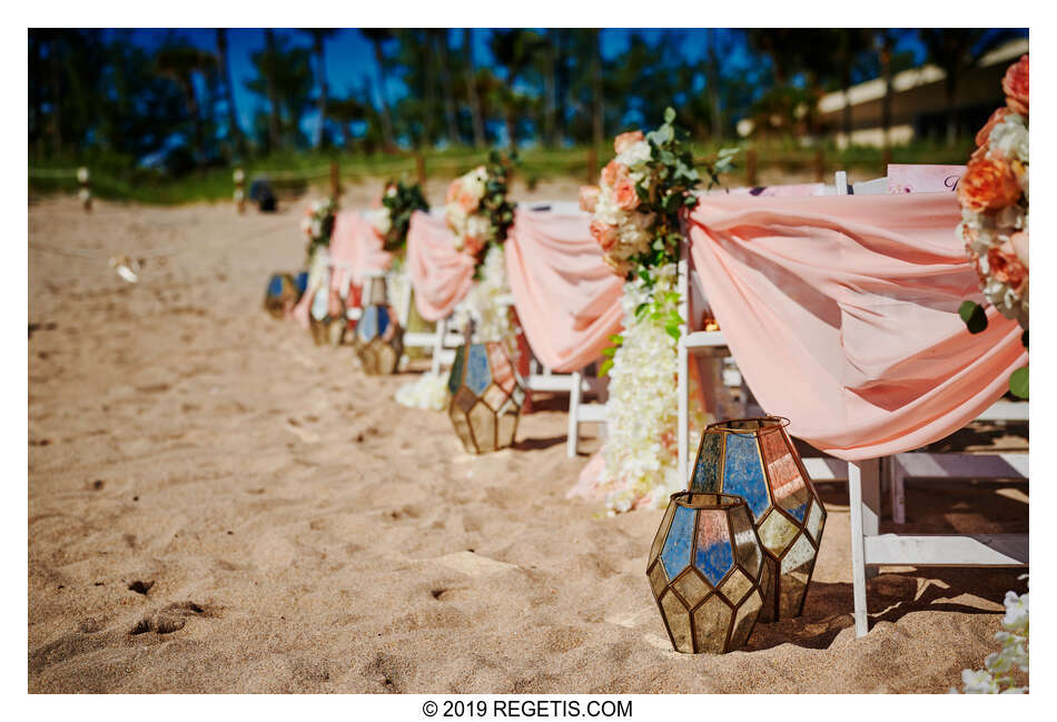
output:
[[[676,652],[725,654],[744,646],[770,586],[745,500],[672,494],[646,576]]]

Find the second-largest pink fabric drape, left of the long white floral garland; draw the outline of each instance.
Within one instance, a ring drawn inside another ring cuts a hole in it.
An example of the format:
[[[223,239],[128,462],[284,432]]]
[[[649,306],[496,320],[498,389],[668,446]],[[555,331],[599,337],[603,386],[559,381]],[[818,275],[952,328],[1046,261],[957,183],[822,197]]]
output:
[[[599,358],[620,332],[623,284],[602,263],[591,216],[518,208],[506,239],[506,275],[533,353],[555,372]]]

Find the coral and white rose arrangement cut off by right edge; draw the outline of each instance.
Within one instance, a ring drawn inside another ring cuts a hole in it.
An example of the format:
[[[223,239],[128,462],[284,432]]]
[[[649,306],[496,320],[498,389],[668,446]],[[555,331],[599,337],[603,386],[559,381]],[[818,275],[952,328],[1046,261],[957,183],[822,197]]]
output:
[[[1028,56],[1006,71],[1006,107],[996,110],[976,136],[977,149],[958,184],[958,236],[980,277],[987,300],[1024,328],[1028,347]],[[967,300],[960,314],[974,334],[987,316]],[[1010,390],[1028,396],[1028,367],[1009,379]]]

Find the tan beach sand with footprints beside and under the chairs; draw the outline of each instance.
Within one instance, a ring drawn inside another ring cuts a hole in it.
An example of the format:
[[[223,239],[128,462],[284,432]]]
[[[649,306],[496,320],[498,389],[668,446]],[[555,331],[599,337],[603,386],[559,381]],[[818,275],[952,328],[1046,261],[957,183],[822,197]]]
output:
[[[565,399],[472,457],[393,400],[413,373],[368,378],[260,309],[300,214],[30,205],[30,692],[946,692],[997,649],[1015,570],[885,570],[857,640],[847,489],[821,484],[804,615],[676,654],[644,573],[660,514],[565,498],[599,447],[565,457]],[[910,484],[908,510],[1023,532],[1027,485]]]

